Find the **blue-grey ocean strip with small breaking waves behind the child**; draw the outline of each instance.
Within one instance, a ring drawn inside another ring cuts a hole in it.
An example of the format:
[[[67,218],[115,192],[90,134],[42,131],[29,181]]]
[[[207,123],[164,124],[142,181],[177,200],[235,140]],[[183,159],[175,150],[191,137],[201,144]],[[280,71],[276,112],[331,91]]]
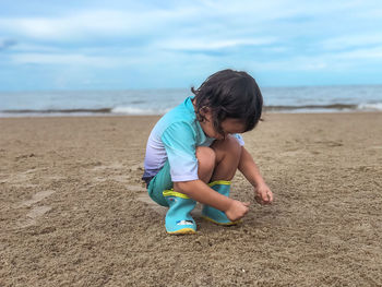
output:
[[[261,87],[266,112],[382,111],[382,85]],[[190,89],[0,92],[0,117],[163,115]]]

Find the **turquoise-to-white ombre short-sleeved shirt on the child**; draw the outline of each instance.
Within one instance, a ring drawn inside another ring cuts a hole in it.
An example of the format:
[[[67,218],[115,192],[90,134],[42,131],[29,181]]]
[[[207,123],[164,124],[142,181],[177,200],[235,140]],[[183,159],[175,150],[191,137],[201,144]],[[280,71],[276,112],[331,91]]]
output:
[[[241,144],[242,139],[236,135]],[[167,112],[156,123],[150,134],[144,159],[143,179],[153,178],[159,172],[166,160],[170,165],[174,182],[196,180],[196,147],[210,146],[214,139],[204,134],[196,119],[192,98]]]

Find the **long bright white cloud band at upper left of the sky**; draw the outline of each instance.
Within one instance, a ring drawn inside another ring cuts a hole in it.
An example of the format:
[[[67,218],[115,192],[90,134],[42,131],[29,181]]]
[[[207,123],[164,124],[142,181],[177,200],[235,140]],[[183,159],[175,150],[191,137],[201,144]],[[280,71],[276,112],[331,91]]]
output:
[[[35,39],[77,41],[89,37],[146,34],[190,13],[192,10],[93,10],[56,17],[3,17],[0,26],[3,31]]]

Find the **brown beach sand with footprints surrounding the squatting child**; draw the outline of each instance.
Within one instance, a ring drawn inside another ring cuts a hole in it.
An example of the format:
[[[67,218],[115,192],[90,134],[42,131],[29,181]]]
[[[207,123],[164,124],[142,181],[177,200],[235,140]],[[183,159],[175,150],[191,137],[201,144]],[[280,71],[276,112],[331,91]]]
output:
[[[268,113],[244,134],[275,194],[168,236],[141,182],[158,117],[0,119],[0,286],[382,286],[382,112]]]

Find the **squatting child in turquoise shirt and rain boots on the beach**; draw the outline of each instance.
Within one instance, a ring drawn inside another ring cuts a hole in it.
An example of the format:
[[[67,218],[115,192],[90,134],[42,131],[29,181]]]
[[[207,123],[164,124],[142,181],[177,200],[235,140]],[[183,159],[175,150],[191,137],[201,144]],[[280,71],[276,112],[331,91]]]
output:
[[[150,196],[169,207],[166,230],[176,235],[196,231],[190,215],[196,202],[204,204],[203,217],[219,225],[235,225],[248,213],[249,203],[228,198],[237,169],[254,187],[259,203],[273,201],[239,135],[261,118],[263,98],[254,79],[224,70],[191,91],[194,97],[154,127],[142,177]]]

